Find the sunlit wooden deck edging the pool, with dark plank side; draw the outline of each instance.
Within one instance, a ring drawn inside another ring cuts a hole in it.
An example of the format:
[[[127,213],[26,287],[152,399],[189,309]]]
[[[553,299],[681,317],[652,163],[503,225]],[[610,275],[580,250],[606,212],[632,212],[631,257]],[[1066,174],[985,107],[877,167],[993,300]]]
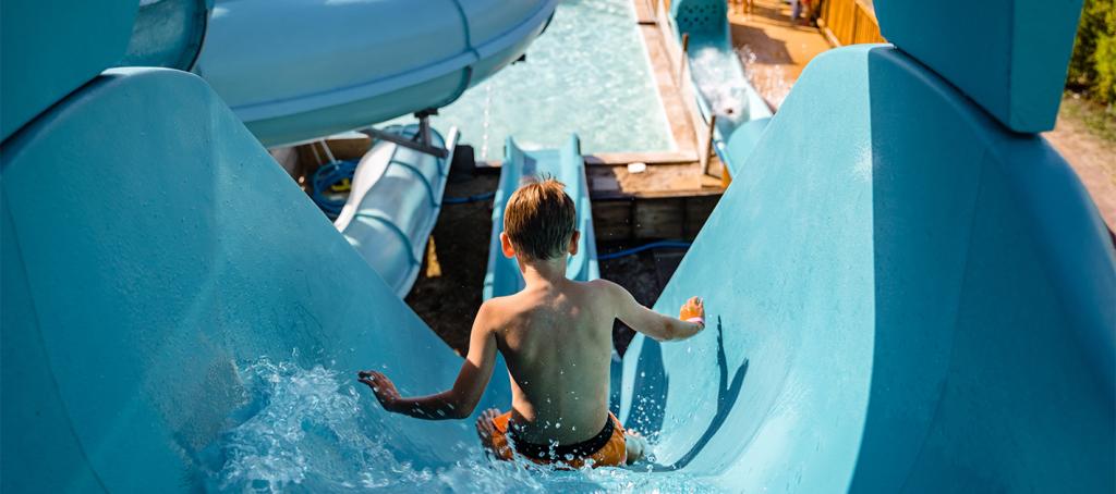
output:
[[[757,9],[748,14],[730,9],[733,43],[756,55],[749,60],[752,84],[777,108],[802,67],[830,43],[818,29],[791,22],[790,9],[781,1],[754,3]],[[698,120],[686,99],[694,89],[689,74],[679,77],[677,43],[656,22],[658,1],[633,0],[633,6],[679,151],[587,156],[594,226],[600,242],[692,239],[724,191],[718,178],[721,164],[712,154],[709,171],[715,176],[703,173],[700,146],[708,145],[708,134],[695,129]],[[626,165],[635,162],[647,163],[646,172],[628,173]]]

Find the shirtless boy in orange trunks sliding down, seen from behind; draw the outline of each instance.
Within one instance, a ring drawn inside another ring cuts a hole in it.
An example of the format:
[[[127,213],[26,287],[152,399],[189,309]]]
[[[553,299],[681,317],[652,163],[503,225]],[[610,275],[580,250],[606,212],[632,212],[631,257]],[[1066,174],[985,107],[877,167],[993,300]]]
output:
[[[362,371],[360,382],[388,411],[461,419],[477,407],[499,350],[508,362],[512,404],[503,415],[489,409],[477,420],[487,451],[501,459],[518,453],[573,468],[638,461],[645,442],[625,434],[608,411],[613,320],[660,341],[677,340],[704,329],[705,310],[695,297],[674,319],[641,306],[613,282],[566,279],[566,258],[577,254],[580,235],[576,219],[574,202],[555,180],[523,185],[511,195],[500,244],[519,262],[526,287],[481,306],[452,389],[404,398],[381,372]]]

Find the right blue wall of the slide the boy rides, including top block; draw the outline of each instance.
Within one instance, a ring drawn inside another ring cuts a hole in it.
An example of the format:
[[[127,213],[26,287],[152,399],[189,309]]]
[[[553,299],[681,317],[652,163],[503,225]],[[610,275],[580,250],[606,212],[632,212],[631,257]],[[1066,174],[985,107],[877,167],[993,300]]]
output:
[[[1080,6],[991,2],[1007,25],[932,46],[969,3],[886,3],[885,30],[920,23],[888,39],[949,70],[886,45],[810,62],[655,304],[703,296],[709,329],[633,341],[622,418],[661,471],[737,492],[1112,492],[1116,252],[1013,127],[1052,125],[1058,88],[999,71],[1061,77]],[[1064,50],[984,38],[1040,25],[1027,43]]]

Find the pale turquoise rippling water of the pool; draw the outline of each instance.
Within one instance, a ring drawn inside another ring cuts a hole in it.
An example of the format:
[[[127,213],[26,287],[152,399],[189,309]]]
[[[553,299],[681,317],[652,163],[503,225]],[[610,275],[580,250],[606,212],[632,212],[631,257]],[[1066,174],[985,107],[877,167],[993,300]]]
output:
[[[631,0],[562,1],[526,62],[469,89],[431,122],[443,134],[461,129],[478,159],[500,159],[509,135],[529,149],[560,146],[570,133],[584,153],[674,148]]]

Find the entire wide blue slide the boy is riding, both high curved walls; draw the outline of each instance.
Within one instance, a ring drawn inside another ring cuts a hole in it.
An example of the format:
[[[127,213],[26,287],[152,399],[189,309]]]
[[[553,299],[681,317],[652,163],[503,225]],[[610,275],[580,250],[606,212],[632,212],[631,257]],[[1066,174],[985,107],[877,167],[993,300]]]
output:
[[[960,2],[881,6],[902,49],[819,57],[762,134],[656,303],[709,329],[625,357],[654,463],[541,474],[350,387],[461,359],[203,79],[109,68],[135,6],[0,3],[0,490],[1112,492],[1116,253],[1029,134],[1076,12],[930,42]]]

